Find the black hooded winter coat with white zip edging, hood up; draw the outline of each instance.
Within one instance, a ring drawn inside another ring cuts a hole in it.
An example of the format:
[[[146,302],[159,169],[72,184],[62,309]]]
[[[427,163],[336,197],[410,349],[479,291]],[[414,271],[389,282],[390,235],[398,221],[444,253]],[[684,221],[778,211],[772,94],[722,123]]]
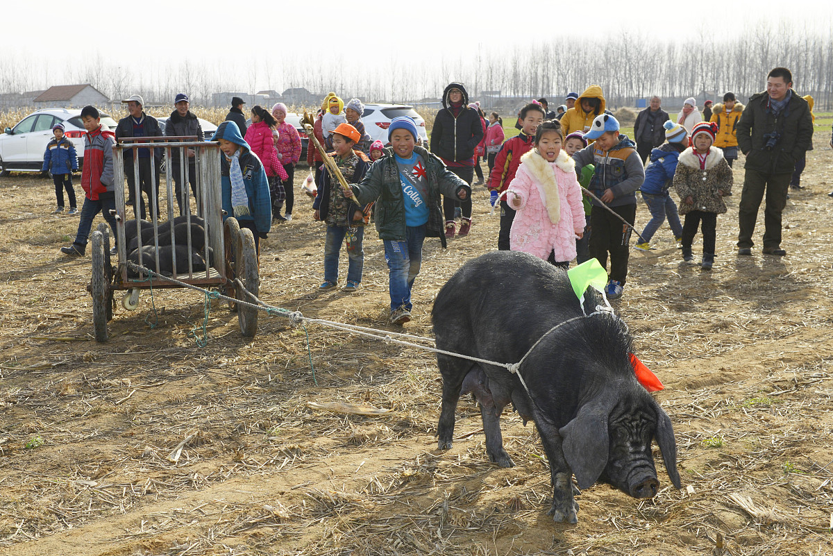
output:
[[[454,117],[448,92],[460,89],[462,107]],[[449,83],[442,92],[442,110],[436,113],[431,130],[431,152],[446,162],[470,161],[475,156],[477,143],[483,138],[480,114],[468,107],[468,92],[461,83]]]

